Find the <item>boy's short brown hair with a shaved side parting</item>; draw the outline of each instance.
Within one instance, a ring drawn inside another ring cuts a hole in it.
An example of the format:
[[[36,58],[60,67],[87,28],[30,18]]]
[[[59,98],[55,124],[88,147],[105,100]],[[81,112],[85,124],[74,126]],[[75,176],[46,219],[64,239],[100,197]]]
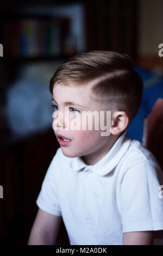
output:
[[[53,94],[56,83],[80,86],[95,78],[99,80],[91,88],[91,97],[125,111],[131,121],[141,105],[143,82],[127,54],[112,51],[76,54],[55,71],[49,90]]]

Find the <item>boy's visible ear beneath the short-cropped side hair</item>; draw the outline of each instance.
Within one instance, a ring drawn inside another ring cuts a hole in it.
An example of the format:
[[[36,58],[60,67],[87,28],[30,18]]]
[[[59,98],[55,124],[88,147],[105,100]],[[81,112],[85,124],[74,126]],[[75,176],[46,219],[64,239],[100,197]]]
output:
[[[112,114],[110,133],[118,135],[123,132],[129,124],[129,117],[124,111],[116,111]]]

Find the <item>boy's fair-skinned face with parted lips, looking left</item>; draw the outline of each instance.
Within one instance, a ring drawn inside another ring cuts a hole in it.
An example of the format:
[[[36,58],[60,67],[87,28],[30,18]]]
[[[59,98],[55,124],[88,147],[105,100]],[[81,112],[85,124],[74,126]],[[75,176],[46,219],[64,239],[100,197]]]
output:
[[[54,133],[56,136],[62,135],[71,140],[67,145],[64,145],[64,142],[60,143],[62,153],[67,157],[82,156],[87,164],[95,164],[99,161],[108,153],[114,141],[110,133],[110,109],[102,102],[91,99],[90,91],[93,84],[95,84],[95,81],[90,81],[76,87],[55,84],[53,88],[53,99],[55,101],[52,99],[53,105],[55,105],[53,113]],[[73,102],[73,104],[68,103],[66,105],[65,102]],[[67,107],[66,111],[65,107]],[[93,111],[96,111],[96,114],[98,114],[99,122],[97,117],[95,119],[93,117],[92,130],[89,130],[88,119],[84,119],[84,117],[86,113],[90,113],[90,117],[92,117],[91,113]],[[100,111],[103,111],[104,116],[100,117]],[[106,111],[109,113],[108,118],[106,118]],[[87,123],[84,120],[87,120]],[[99,129],[97,127],[98,130],[95,129],[95,120],[97,121],[96,125],[98,124],[99,127]],[[82,122],[86,125],[86,130],[82,129]],[[74,130],[73,124],[78,127],[78,130]],[[108,136],[101,136],[101,132],[106,133],[106,128],[105,130],[103,128],[104,125],[105,127],[107,125]],[[60,142],[58,137],[57,139]]]

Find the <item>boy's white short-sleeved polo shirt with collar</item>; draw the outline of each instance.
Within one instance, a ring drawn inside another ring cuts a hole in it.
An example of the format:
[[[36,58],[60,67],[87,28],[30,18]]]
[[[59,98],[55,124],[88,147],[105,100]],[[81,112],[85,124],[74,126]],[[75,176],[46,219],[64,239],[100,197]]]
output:
[[[94,165],[61,148],[53,157],[36,204],[62,216],[71,245],[122,245],[125,232],[163,230],[162,170],[126,132]]]

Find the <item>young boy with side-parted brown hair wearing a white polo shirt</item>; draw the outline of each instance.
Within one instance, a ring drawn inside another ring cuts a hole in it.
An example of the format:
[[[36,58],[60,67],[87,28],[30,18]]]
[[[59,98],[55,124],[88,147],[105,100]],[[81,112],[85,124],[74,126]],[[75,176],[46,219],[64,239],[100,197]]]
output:
[[[36,201],[28,245],[55,244],[61,217],[71,245],[153,244],[163,229],[163,174],[152,153],[125,136],[142,90],[127,54],[80,53],[55,72],[50,91],[60,148]],[[92,129],[87,113],[97,114]]]

